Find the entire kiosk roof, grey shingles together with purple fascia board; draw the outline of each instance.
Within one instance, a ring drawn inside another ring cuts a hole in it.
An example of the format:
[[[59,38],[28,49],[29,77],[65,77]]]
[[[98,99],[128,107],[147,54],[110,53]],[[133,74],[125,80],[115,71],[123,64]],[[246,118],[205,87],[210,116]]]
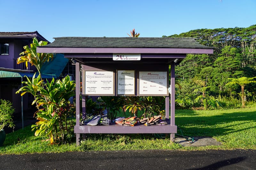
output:
[[[193,53],[212,54],[212,47],[195,38],[171,37],[58,37],[37,47],[47,53]],[[165,50],[164,50],[165,49]],[[198,49],[198,50],[195,50]]]

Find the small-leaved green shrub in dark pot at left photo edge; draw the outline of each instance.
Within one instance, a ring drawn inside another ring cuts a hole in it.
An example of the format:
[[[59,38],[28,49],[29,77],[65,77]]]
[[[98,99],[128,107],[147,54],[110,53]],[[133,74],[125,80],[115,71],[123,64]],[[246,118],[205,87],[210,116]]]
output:
[[[0,100],[0,146],[3,146],[5,140],[5,131],[4,127],[13,127],[13,113],[14,108],[12,107],[12,103],[8,100]]]

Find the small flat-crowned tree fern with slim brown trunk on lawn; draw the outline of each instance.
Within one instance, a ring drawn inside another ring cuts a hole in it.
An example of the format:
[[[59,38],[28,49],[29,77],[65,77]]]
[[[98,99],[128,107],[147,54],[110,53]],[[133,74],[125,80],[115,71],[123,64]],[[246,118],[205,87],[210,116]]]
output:
[[[240,85],[241,86],[241,100],[242,100],[242,107],[245,107],[245,96],[244,96],[244,87],[250,83],[256,83],[254,80],[256,77],[248,78],[248,77],[241,77],[241,78],[228,78],[231,80],[226,85]]]

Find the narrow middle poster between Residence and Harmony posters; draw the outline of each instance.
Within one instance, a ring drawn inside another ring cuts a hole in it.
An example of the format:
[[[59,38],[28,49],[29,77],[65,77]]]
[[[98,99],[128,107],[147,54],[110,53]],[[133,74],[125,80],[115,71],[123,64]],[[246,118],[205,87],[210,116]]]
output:
[[[134,70],[117,70],[117,94],[135,95]]]

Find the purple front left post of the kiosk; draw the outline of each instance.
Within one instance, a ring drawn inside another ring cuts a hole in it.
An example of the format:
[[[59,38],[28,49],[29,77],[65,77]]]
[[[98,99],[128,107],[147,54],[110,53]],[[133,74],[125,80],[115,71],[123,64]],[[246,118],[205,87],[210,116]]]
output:
[[[80,63],[76,62],[76,126],[80,126]],[[76,133],[76,145],[80,144],[80,133]]]

